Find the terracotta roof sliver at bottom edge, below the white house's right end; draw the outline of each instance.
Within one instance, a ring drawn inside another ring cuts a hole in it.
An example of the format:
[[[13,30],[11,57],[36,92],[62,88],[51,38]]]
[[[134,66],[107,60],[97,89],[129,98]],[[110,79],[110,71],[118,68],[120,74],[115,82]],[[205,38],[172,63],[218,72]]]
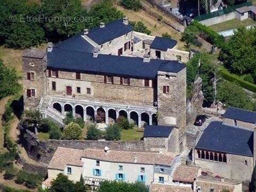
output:
[[[191,187],[152,183],[149,192],[193,192]]]

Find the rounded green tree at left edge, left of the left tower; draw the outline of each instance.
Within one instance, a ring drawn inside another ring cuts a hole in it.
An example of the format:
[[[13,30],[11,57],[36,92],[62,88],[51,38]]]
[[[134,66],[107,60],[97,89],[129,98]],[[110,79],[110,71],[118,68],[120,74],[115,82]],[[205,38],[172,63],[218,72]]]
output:
[[[1,24],[0,24],[1,25]],[[7,68],[0,60],[0,99],[20,90],[19,77],[14,69]]]

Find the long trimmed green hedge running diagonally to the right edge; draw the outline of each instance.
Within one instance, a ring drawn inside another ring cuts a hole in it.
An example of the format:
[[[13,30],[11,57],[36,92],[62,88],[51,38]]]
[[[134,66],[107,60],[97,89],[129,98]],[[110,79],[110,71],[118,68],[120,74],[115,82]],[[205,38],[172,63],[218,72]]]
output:
[[[237,75],[230,74],[229,71],[225,69],[221,69],[221,76],[225,78],[227,81],[230,82],[238,82],[240,86],[242,86],[244,89],[247,89],[252,92],[256,92],[256,85],[247,81],[244,81],[243,79],[239,78]]]

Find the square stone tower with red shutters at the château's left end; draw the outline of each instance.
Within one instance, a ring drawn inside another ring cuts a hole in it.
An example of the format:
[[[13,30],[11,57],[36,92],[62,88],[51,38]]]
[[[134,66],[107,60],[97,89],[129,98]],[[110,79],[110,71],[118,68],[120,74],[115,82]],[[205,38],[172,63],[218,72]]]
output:
[[[30,49],[22,55],[24,109],[36,109],[46,90],[46,52]]]

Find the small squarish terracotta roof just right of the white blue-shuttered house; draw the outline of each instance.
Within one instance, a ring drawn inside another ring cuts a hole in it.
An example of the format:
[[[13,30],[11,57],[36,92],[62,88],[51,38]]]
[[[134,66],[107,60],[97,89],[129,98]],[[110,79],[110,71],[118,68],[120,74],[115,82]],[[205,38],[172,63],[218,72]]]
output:
[[[179,165],[174,171],[173,180],[193,182],[198,176],[199,167]]]

